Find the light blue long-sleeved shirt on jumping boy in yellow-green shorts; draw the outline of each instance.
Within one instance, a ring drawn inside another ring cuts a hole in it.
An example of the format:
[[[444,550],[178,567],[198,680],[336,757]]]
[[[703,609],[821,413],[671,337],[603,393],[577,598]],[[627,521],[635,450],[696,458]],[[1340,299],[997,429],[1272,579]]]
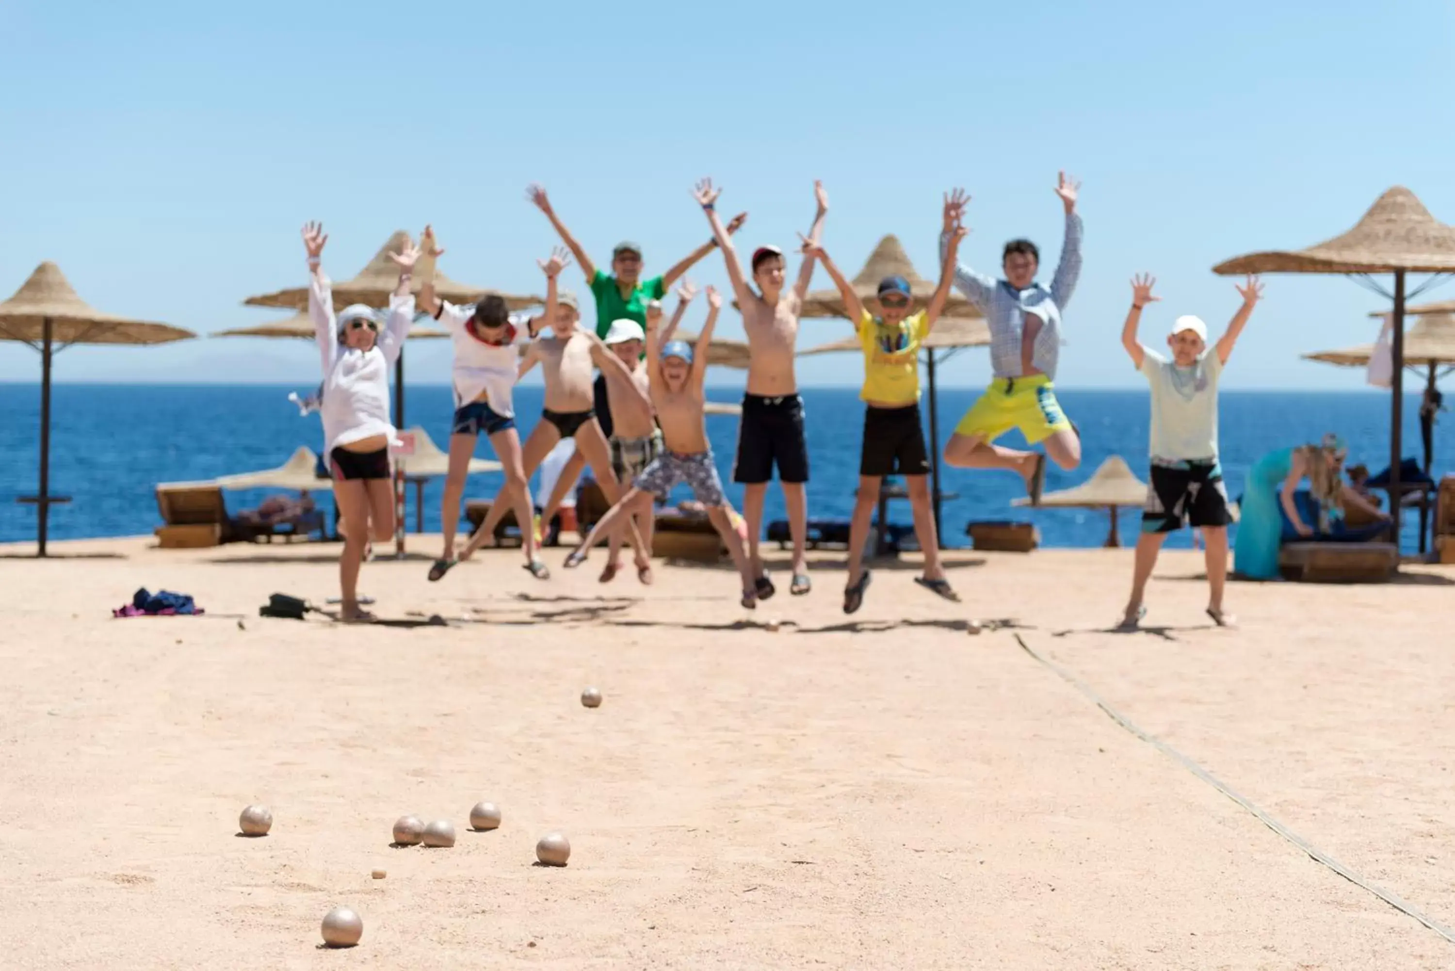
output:
[[[949,237],[940,236],[940,259]],[[1067,213],[1067,242],[1061,246],[1061,262],[1051,288],[1032,284],[1026,290],[1014,290],[1004,280],[992,280],[976,274],[963,263],[954,268],[954,285],[970,303],[985,314],[991,332],[991,367],[995,377],[1024,377],[1020,365],[1020,339],[1026,326],[1026,307],[1045,312],[1046,323],[1036,335],[1032,349],[1032,365],[1056,380],[1056,360],[1061,355],[1061,307],[1071,300],[1081,275],[1081,217]]]

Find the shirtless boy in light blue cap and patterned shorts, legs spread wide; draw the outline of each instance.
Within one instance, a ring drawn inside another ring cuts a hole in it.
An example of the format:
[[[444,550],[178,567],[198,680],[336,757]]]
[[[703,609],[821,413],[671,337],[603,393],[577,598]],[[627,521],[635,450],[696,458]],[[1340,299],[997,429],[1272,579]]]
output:
[[[693,488],[693,496],[707,507],[707,517],[723,544],[728,546],[732,562],[738,568],[738,576],[742,582],[741,603],[752,610],[758,604],[754,574],[742,547],[742,537],[732,527],[722,479],[717,477],[713,450],[707,444],[703,376],[707,373],[707,348],[711,344],[713,326],[717,323],[717,312],[722,309],[722,297],[711,287],[707,288],[707,323],[703,325],[703,332],[697,336],[695,349],[684,341],[661,345],[656,323],[647,317],[646,368],[652,387],[652,403],[656,406],[656,418],[662,425],[666,451],[646,467],[646,472],[637,477],[621,501],[611,507],[611,511],[592,527],[566,565],[575,566],[585,562],[598,537],[614,528],[621,517],[650,517],[653,494],[666,495],[672,486],[685,482]]]

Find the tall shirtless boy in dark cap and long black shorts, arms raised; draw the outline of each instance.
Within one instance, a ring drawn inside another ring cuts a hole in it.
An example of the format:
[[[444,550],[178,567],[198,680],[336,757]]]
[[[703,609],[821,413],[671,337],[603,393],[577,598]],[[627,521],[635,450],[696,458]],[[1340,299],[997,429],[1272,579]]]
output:
[[[783,504],[789,510],[789,531],[793,536],[792,594],[802,595],[813,588],[808,574],[809,512],[805,483],[809,480],[809,451],[803,438],[803,399],[799,397],[793,371],[793,351],[799,336],[799,310],[813,278],[813,252],[808,250],[793,288],[784,291],[783,250],[760,246],[752,255],[755,293],[744,280],[742,265],[732,239],[717,218],[720,188],[711,179],[697,185],[693,198],[707,214],[713,237],[723,250],[728,280],[742,310],[742,328],[748,335],[748,390],[742,397],[742,419],[738,422],[738,457],[733,460],[733,482],[744,485],[742,511],[748,520],[748,560],[752,566],[758,600],[776,592],[762,568],[758,543],[762,537],[762,501],[768,492],[773,467],[778,467]],[[816,245],[828,214],[828,194],[821,182],[813,183],[818,213],[808,239]]]

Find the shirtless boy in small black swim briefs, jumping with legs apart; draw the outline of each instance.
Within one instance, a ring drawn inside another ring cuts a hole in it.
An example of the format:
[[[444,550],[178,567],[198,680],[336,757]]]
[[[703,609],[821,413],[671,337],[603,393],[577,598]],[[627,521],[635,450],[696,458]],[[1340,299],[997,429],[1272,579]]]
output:
[[[604,371],[615,371],[623,379],[623,387],[636,389],[630,380],[630,373],[613,355],[592,330],[578,328],[579,313],[576,298],[557,290],[560,271],[570,263],[570,256],[556,252],[541,263],[546,272],[546,319],[550,322],[554,336],[541,338],[530,345],[525,360],[521,361],[517,380],[525,377],[537,364],[546,377],[546,408],[541,411],[541,421],[531,429],[530,438],[522,448],[522,466],[530,477],[540,467],[540,463],[556,447],[562,438],[575,438],[576,447],[586,456],[591,469],[601,483],[601,491],[608,502],[621,498],[617,476],[611,472],[611,453],[607,448],[607,438],[597,424],[597,413],[591,393],[591,374],[594,367]],[[631,399],[623,402],[623,406]],[[645,393],[637,393],[634,406],[650,421],[652,403]],[[511,486],[506,485],[490,504],[490,512],[485,523],[470,537],[470,543],[461,552],[460,559],[467,559],[474,550],[493,540],[495,526],[505,515]],[[522,533],[531,528],[531,521],[519,523]],[[640,540],[633,533],[631,544],[637,550],[637,562],[646,562],[646,553],[640,549]],[[544,563],[531,565],[531,574],[546,578],[550,571]]]

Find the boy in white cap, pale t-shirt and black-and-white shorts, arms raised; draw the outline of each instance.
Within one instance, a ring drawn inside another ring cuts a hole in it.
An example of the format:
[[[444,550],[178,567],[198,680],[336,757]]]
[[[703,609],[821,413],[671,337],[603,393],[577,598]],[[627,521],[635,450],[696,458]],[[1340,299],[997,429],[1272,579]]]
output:
[[[1142,510],[1142,534],[1136,540],[1132,595],[1120,626],[1135,629],[1147,616],[1142,595],[1157,565],[1157,553],[1170,533],[1192,524],[1195,530],[1202,530],[1206,544],[1208,616],[1225,627],[1234,623],[1232,616],[1222,611],[1231,517],[1222,466],[1218,463],[1218,379],[1263,296],[1263,284],[1248,277],[1247,284],[1238,287],[1243,306],[1212,349],[1208,348],[1208,325],[1193,316],[1177,317],[1167,336],[1173,352],[1170,361],[1136,339],[1142,309],[1160,300],[1152,296],[1155,284],[1157,280],[1148,275],[1132,280],[1132,309],[1122,326],[1122,346],[1151,384],[1152,429],[1151,485]]]

